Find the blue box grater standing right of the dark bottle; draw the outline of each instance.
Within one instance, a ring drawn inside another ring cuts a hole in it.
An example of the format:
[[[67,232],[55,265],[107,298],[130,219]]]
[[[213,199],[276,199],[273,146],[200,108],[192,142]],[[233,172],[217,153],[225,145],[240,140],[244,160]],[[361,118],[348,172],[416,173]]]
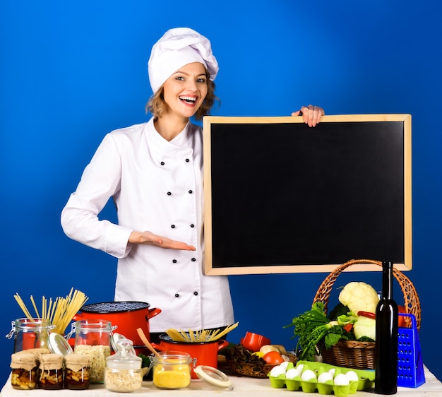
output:
[[[416,388],[425,383],[416,317],[413,314],[399,315],[410,317],[412,326],[398,328],[398,386]]]

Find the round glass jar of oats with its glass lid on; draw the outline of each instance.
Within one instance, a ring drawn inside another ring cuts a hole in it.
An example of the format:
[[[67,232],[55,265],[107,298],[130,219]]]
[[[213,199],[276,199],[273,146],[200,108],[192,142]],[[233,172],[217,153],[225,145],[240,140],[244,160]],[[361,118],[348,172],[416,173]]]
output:
[[[143,374],[141,357],[133,354],[133,342],[129,339],[117,341],[117,352],[106,359],[104,386],[107,390],[125,393],[141,389]]]

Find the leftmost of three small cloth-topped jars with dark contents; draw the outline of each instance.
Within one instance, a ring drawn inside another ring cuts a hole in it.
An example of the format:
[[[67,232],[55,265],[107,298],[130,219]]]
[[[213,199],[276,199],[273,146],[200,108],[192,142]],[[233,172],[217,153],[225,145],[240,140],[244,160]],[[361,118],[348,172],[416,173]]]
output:
[[[37,386],[37,359],[32,353],[11,355],[11,386],[32,390]]]

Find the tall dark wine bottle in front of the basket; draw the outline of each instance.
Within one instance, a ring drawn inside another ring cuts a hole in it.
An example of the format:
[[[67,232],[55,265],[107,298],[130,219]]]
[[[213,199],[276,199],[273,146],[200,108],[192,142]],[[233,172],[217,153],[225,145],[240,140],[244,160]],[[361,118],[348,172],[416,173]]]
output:
[[[393,263],[382,263],[382,296],[376,307],[376,367],[374,391],[398,391],[398,304],[393,300]]]

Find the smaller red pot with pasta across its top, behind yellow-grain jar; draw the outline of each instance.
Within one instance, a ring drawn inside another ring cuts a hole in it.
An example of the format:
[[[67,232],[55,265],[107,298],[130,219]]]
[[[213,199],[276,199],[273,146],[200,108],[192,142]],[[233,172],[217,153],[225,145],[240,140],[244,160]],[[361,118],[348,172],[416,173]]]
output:
[[[214,340],[213,342],[175,342],[167,334],[160,335],[160,343],[152,343],[155,350],[162,352],[168,350],[175,350],[179,352],[186,352],[196,359],[195,367],[197,365],[208,365],[213,368],[218,366],[218,352],[227,348],[229,342],[223,339]],[[198,379],[198,376],[191,369],[192,379]]]

